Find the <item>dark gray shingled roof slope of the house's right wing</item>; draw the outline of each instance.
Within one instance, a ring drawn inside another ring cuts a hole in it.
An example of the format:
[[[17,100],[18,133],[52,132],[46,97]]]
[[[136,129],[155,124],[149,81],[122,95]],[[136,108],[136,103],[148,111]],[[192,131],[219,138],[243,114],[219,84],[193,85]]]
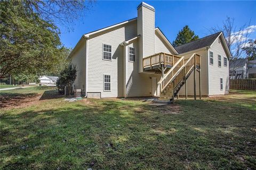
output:
[[[204,38],[197,39],[190,43],[174,47],[179,54],[190,52],[195,49],[211,46],[214,40],[220,35],[221,32],[214,33],[213,35],[206,36]]]

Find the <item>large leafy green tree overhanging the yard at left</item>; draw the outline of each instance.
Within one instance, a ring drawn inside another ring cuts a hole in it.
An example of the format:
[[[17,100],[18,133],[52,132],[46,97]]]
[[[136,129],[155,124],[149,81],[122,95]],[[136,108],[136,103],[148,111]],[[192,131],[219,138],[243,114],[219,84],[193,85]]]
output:
[[[85,7],[83,1],[0,1],[0,79],[56,69],[65,49],[55,23],[70,25]]]

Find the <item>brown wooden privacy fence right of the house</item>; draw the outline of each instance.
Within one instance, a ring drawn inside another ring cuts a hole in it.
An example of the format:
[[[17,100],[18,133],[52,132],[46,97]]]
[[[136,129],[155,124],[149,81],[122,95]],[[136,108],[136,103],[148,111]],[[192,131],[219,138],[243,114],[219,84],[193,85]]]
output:
[[[256,79],[229,80],[229,89],[256,91]]]

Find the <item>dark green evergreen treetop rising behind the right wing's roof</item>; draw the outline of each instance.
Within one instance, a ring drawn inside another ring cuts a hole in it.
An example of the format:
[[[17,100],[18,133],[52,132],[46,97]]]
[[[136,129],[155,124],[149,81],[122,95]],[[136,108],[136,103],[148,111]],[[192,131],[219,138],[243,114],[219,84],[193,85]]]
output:
[[[199,37],[195,35],[195,32],[192,31],[188,25],[183,27],[182,30],[179,31],[176,39],[173,41],[173,46],[177,47],[182,44],[190,43],[191,41],[197,40]]]

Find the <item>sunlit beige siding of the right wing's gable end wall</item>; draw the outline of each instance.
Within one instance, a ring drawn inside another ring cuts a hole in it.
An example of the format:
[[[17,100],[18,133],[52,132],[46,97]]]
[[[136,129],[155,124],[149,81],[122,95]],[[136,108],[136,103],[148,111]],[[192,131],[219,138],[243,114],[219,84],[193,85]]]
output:
[[[229,61],[224,66],[223,57],[227,57],[222,44],[218,39],[214,41],[208,54],[213,52],[213,65],[209,64],[209,95],[225,95],[229,90]],[[218,66],[218,55],[221,55],[221,67]],[[209,59],[208,59],[209,60]],[[223,90],[220,90],[220,78],[223,79]]]

